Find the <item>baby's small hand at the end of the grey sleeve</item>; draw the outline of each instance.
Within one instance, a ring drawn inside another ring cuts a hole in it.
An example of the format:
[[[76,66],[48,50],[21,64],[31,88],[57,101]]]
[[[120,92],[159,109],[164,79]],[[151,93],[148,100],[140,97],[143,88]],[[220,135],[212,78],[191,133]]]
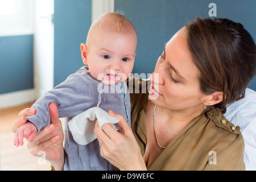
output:
[[[16,147],[23,146],[23,137],[27,138],[29,142],[34,139],[36,132],[38,130],[36,129],[36,126],[31,122],[26,122],[24,125],[20,126],[14,137],[14,145]]]

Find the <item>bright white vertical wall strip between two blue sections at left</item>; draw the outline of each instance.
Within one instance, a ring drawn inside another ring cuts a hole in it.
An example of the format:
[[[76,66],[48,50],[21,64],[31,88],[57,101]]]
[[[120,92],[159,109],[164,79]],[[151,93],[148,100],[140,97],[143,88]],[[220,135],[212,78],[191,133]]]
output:
[[[36,96],[53,89],[54,0],[35,1],[34,85]]]

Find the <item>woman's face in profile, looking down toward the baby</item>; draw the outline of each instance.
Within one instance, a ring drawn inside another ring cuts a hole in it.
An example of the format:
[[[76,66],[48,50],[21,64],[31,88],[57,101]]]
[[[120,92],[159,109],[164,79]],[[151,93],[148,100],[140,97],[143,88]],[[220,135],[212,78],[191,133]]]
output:
[[[181,28],[164,46],[150,76],[150,99],[170,110],[203,110],[207,98],[200,90],[199,69],[192,61],[185,28]]]

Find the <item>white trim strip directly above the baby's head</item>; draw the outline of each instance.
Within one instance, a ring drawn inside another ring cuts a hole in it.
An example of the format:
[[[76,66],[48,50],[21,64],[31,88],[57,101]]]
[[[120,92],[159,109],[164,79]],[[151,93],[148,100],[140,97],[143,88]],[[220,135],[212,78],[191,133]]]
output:
[[[114,12],[114,0],[92,0],[92,23],[100,15]]]

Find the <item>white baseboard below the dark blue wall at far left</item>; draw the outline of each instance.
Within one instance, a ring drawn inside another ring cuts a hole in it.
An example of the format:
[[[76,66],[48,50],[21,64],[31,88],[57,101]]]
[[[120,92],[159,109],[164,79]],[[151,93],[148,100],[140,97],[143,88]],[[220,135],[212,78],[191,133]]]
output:
[[[0,94],[0,109],[27,104],[36,99],[35,89]]]

